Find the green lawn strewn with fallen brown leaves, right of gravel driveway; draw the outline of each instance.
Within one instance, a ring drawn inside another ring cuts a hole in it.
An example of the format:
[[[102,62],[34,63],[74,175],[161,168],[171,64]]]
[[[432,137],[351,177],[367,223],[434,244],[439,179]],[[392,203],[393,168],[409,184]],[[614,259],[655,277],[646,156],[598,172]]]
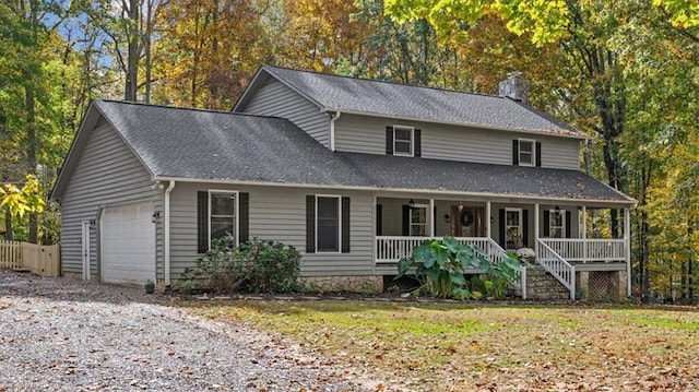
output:
[[[363,300],[189,302],[249,322],[389,387],[465,391],[699,390],[697,308]]]

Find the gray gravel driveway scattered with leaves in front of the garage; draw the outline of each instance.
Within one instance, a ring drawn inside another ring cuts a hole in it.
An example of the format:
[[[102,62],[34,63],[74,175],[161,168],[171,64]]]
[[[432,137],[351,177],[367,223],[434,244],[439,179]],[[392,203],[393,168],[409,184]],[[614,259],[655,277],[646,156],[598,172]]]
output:
[[[348,380],[357,372],[318,365],[251,326],[156,298],[0,270],[0,392],[381,389],[370,375]]]

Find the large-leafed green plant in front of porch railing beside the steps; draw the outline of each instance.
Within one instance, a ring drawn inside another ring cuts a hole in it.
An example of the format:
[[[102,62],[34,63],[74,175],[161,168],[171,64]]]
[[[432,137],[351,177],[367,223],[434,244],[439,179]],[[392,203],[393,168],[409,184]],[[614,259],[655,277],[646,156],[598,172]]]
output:
[[[420,286],[407,295],[427,290],[438,298],[478,299],[505,297],[509,283],[519,278],[520,263],[510,253],[497,264],[490,263],[478,247],[446,236],[420,243],[410,258],[401,259],[396,278],[408,274],[412,268]],[[470,270],[483,273],[477,280],[466,281],[464,273]]]

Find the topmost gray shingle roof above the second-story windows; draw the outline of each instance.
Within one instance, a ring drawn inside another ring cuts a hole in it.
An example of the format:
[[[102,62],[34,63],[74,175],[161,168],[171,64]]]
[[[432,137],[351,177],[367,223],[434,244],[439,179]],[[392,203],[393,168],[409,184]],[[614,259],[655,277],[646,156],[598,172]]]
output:
[[[510,98],[263,66],[324,110],[587,138]]]

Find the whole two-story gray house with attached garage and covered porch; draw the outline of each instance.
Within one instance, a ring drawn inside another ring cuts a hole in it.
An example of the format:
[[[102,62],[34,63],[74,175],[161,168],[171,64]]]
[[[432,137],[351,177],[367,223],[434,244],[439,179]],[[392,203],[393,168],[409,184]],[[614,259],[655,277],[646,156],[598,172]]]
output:
[[[635,200],[580,171],[587,135],[514,94],[263,66],[232,112],[96,100],[52,192],[63,273],[169,285],[232,234],[296,247],[317,285],[380,290],[452,235],[494,260],[532,248],[571,295],[628,294]],[[590,238],[611,209],[624,238]]]

